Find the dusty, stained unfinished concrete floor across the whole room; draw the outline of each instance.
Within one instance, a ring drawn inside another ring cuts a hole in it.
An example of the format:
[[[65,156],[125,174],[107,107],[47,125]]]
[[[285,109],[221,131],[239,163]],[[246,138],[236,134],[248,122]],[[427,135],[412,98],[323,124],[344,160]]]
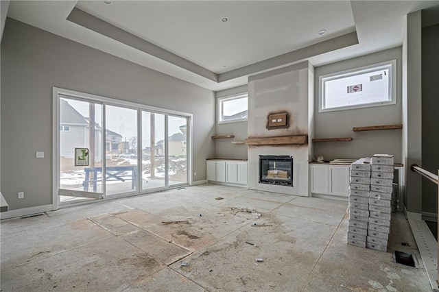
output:
[[[9,219],[1,291],[431,291],[403,214],[379,252],[346,244],[347,205],[204,184]]]

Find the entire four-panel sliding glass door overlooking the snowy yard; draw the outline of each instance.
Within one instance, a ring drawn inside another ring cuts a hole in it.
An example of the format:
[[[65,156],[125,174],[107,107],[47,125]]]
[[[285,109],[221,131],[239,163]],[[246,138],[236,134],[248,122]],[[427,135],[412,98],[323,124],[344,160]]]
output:
[[[189,183],[189,117],[78,95],[56,95],[59,202]]]

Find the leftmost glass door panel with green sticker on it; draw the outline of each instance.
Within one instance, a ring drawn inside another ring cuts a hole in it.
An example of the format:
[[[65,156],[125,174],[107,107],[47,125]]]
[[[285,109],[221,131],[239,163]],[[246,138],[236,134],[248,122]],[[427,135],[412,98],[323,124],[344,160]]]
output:
[[[102,105],[60,97],[58,117],[60,202],[99,199],[103,193]]]

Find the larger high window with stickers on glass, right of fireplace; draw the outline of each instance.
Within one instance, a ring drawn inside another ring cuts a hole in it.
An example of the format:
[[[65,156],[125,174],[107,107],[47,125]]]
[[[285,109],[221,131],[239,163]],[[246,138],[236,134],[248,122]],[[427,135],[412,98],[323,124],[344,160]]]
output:
[[[320,76],[319,112],[396,104],[396,60]]]

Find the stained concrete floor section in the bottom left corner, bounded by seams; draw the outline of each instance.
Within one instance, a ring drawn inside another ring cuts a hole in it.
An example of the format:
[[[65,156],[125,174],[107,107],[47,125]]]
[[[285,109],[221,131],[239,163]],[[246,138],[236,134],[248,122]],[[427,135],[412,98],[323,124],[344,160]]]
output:
[[[1,289],[121,291],[163,267],[115,236],[2,272]]]

